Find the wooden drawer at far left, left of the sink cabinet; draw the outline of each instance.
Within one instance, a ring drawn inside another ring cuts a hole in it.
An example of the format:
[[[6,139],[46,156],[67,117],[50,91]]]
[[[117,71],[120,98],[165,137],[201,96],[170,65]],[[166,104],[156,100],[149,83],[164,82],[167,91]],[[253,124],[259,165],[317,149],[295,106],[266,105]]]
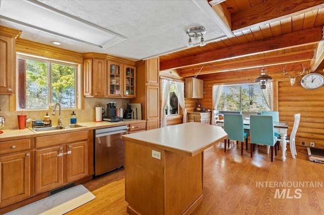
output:
[[[0,154],[13,153],[31,148],[30,139],[10,140],[0,143]]]

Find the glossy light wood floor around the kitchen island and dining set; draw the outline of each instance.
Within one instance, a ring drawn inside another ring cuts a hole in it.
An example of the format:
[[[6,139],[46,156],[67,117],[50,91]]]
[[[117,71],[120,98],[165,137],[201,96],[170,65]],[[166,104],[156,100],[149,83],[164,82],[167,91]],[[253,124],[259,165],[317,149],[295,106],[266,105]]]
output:
[[[297,148],[297,153],[293,159],[288,149],[282,162],[278,151],[271,163],[261,147],[256,148],[253,158],[250,149],[241,156],[237,145],[226,153],[218,145],[205,150],[204,200],[192,214],[324,214],[324,164],[309,162],[304,148]],[[258,182],[268,186],[257,186]],[[304,182],[304,187],[270,187],[275,182]],[[317,182],[322,186],[306,186]],[[96,199],[67,214],[127,214],[124,169],[84,186]],[[286,192],[285,198],[275,198],[276,189],[282,193],[285,188],[287,192],[290,188],[289,195]],[[300,195],[295,189],[301,189]]]

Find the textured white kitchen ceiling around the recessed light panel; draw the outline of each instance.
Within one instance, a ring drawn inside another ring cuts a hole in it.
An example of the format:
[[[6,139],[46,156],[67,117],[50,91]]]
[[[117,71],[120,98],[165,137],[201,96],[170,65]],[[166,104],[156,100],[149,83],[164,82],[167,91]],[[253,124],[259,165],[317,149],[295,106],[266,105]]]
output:
[[[204,1],[205,0],[197,0]],[[6,7],[11,1],[1,1],[0,15],[4,16]],[[19,4],[23,1],[14,1],[15,7],[10,9],[11,18],[15,19],[21,12]],[[5,19],[0,24],[22,31],[20,38],[53,45],[52,41],[59,41],[59,47],[77,52],[98,52],[128,58],[132,60],[147,59],[163,53],[186,48],[187,29],[204,26],[207,29],[205,41],[212,41],[225,34],[219,29],[215,21],[202,11],[194,1],[38,1],[61,12],[67,13],[76,19],[81,19],[103,28],[106,31],[118,34],[126,39],[111,45],[108,48],[94,47],[89,44],[76,42]],[[5,7],[6,6],[6,7]],[[37,14],[39,12],[28,11]],[[42,16],[46,16],[46,13]],[[41,16],[38,16],[42,19]],[[52,20],[53,21],[53,20]],[[60,19],[54,20],[62,25]],[[46,23],[45,23],[46,26]],[[63,25],[62,25],[63,26]],[[44,23],[43,23],[44,28]],[[66,29],[67,33],[69,28]],[[67,34],[66,33],[66,34]],[[74,33],[74,32],[72,32]]]

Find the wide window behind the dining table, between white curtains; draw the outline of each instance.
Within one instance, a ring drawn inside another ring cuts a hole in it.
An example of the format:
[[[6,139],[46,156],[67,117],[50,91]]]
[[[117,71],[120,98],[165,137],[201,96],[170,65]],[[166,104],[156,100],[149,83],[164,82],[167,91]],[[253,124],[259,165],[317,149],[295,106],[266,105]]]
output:
[[[259,84],[225,85],[217,110],[220,113],[269,111]]]

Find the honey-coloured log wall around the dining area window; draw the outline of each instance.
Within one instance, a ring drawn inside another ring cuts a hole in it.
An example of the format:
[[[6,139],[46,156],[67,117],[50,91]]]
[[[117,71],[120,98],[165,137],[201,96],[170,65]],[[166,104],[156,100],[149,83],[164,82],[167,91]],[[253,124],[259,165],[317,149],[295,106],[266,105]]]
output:
[[[322,66],[315,72],[324,75]],[[300,113],[301,120],[296,134],[296,145],[310,146],[315,143],[316,148],[324,148],[324,86],[315,90],[304,89],[301,84],[302,76],[296,79],[293,86],[288,76],[282,72],[271,73],[274,86],[274,111],[279,111],[280,121],[289,123],[288,135],[294,125],[294,114]],[[300,71],[288,71],[293,77]],[[305,73],[309,71],[306,70]],[[212,86],[214,84],[251,83],[258,72],[222,72],[209,75],[200,75],[197,78],[204,80],[204,98],[186,99],[186,108],[192,111],[196,101],[201,102],[206,109],[212,110]]]

